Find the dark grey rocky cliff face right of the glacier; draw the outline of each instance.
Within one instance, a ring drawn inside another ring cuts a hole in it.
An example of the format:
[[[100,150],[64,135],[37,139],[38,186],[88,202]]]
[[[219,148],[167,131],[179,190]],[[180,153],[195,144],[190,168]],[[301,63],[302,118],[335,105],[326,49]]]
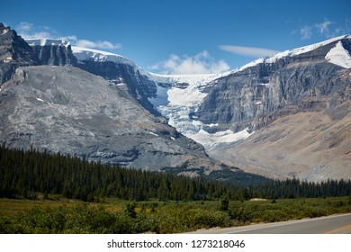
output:
[[[350,39],[336,40],[217,79],[195,115],[203,123],[219,123],[221,128],[257,130],[275,118],[273,112],[292,111],[284,108],[298,105],[307,97],[343,92],[349,80],[340,78],[338,70],[342,67],[325,58],[338,42],[351,52]]]

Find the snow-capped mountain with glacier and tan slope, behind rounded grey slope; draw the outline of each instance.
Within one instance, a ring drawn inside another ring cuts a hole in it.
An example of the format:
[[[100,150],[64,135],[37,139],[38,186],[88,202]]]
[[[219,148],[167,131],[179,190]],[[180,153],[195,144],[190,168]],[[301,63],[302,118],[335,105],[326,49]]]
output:
[[[316,181],[351,177],[350,35],[199,76],[149,73],[129,58],[61,40],[29,42],[41,62],[103,76],[230,166]]]

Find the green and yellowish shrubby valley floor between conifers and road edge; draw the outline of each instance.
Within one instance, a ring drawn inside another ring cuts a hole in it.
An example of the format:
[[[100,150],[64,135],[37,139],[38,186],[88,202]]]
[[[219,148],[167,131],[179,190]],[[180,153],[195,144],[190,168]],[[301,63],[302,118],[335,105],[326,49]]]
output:
[[[81,202],[0,199],[0,233],[179,233],[252,223],[301,220],[351,212],[351,196],[259,201]]]

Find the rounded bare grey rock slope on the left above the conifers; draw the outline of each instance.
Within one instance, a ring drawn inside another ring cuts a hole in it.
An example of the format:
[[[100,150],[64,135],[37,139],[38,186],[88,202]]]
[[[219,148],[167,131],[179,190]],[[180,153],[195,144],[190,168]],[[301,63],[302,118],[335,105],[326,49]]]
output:
[[[215,167],[203,148],[100,76],[19,67],[0,93],[1,142],[158,170]]]

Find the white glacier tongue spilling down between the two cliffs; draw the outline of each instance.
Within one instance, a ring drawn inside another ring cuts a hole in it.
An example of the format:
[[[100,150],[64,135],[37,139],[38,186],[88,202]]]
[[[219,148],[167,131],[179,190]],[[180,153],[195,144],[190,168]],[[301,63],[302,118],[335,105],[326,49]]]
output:
[[[168,120],[168,124],[184,136],[195,140],[209,150],[221,143],[235,142],[246,139],[250,133],[248,129],[234,133],[231,130],[209,133],[203,127],[214,127],[215,124],[203,124],[191,116],[196,112],[207,96],[203,91],[205,87],[216,85],[215,79],[229,73],[216,75],[193,76],[161,76],[150,74],[157,83],[157,96],[149,98],[159,112]],[[166,85],[165,85],[166,84]]]

